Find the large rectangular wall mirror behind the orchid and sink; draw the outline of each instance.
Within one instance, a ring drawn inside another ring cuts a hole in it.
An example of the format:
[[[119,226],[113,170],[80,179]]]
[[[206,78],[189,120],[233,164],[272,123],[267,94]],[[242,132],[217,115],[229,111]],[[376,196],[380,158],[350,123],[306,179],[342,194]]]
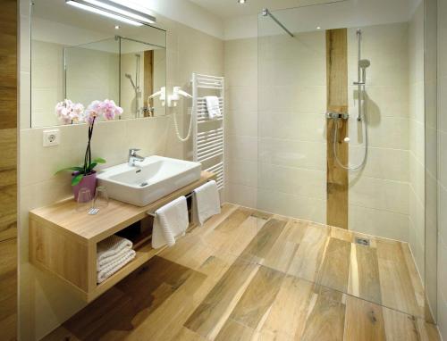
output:
[[[30,4],[31,127],[76,124],[55,114],[64,99],[113,100],[117,120],[164,115],[163,96],[150,96],[165,87],[166,32],[68,3]]]

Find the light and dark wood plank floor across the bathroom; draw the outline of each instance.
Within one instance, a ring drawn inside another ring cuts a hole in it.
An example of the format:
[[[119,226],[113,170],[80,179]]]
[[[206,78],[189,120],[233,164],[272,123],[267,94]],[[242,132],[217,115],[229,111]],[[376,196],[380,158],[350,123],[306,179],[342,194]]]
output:
[[[355,236],[224,205],[45,339],[439,340],[406,244]]]

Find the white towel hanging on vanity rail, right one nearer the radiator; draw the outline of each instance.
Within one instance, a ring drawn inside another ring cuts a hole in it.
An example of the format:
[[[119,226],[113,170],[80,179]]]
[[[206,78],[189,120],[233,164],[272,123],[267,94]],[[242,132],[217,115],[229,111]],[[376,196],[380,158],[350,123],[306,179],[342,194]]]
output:
[[[200,225],[221,212],[221,200],[215,180],[194,189],[195,212]]]

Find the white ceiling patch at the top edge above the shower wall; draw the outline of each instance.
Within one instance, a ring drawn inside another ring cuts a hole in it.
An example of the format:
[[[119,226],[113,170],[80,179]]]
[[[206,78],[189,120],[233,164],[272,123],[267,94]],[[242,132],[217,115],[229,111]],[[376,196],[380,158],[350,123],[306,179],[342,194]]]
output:
[[[268,8],[271,11],[306,6],[310,4],[326,4],[343,0],[247,0],[246,4],[238,4],[237,0],[190,0],[222,19],[253,15]],[[371,0],[374,1],[374,0]]]

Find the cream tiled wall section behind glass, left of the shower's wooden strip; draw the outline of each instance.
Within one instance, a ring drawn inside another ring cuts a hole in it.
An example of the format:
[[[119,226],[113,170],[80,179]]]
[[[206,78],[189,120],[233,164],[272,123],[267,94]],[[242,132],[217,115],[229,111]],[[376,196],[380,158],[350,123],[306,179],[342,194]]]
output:
[[[261,210],[325,222],[325,31],[259,40]]]

